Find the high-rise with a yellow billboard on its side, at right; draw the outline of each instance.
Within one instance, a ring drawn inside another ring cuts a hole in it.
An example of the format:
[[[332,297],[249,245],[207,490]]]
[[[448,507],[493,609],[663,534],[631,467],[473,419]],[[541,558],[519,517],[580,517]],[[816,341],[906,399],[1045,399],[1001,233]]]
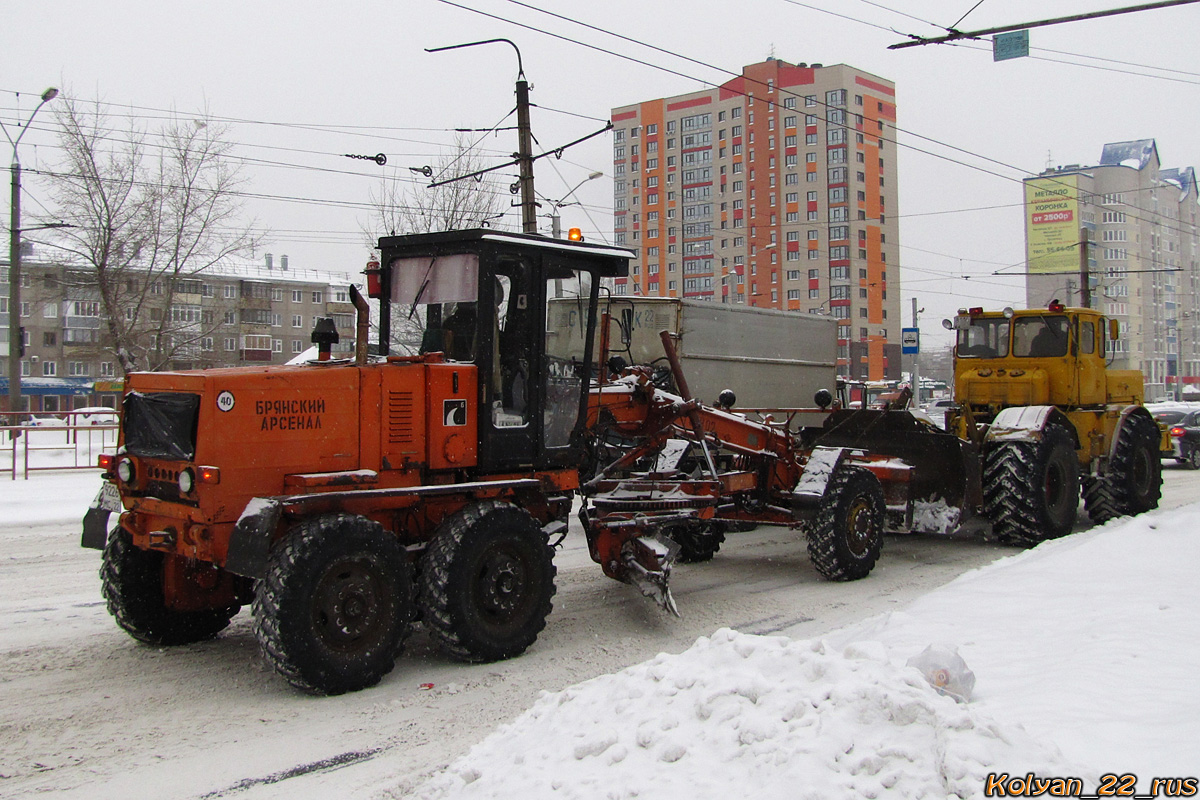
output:
[[[1028,307],[1081,305],[1086,272],[1091,307],[1121,325],[1114,366],[1140,371],[1148,399],[1200,386],[1195,169],[1162,167],[1153,139],[1117,142],[1093,167],[1026,179],[1025,205]]]

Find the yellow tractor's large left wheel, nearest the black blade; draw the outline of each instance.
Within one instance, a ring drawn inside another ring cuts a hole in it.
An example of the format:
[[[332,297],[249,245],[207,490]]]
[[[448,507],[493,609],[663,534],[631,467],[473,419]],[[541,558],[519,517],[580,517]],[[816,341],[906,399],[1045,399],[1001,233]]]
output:
[[[1048,425],[1040,441],[1001,441],[984,457],[984,512],[1003,541],[1033,546],[1070,533],[1079,459],[1070,433]]]

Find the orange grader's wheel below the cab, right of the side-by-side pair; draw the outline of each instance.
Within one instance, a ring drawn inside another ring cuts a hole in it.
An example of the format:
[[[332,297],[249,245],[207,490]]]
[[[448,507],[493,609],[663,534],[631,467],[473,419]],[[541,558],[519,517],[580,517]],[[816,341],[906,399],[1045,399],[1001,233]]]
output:
[[[462,661],[521,655],[546,627],[553,554],[538,522],[514,505],[476,503],[451,515],[421,561],[430,634]]]

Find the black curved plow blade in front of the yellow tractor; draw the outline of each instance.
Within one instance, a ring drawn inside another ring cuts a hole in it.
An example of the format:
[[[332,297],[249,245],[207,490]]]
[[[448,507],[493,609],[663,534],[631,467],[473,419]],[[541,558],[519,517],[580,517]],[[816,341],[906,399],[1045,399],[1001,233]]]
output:
[[[950,533],[983,504],[976,445],[908,411],[834,411],[814,444],[860,449],[911,468],[906,486],[883,487],[892,530]]]

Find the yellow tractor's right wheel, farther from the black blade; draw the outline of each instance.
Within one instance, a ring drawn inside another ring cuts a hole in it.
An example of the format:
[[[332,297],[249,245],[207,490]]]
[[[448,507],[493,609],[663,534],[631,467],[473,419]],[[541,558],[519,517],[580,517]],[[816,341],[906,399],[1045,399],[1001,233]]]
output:
[[[1117,433],[1108,474],[1088,481],[1084,491],[1087,516],[1096,524],[1158,507],[1163,493],[1163,462],[1158,426],[1135,415]]]

